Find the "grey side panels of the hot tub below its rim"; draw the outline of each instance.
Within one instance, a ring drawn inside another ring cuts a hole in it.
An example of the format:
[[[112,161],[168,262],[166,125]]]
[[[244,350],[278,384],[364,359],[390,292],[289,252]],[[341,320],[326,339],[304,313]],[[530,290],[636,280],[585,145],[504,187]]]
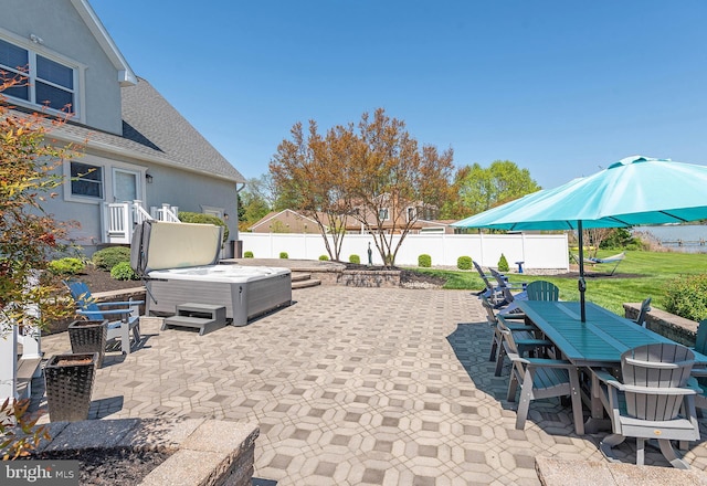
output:
[[[225,306],[225,316],[233,326],[245,326],[254,317],[292,303],[292,275],[278,268],[258,279],[233,278],[219,282],[208,278],[189,279],[181,274],[170,278],[169,272],[152,272],[148,282],[154,299],[147,310],[152,315],[177,314],[177,306],[187,302]]]

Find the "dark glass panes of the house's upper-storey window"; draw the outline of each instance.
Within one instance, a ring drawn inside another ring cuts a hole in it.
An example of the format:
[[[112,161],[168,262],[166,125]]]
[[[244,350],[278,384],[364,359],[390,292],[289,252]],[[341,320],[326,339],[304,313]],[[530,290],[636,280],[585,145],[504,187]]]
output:
[[[34,105],[75,113],[75,70],[0,39],[0,71],[18,77],[20,85],[3,92]]]

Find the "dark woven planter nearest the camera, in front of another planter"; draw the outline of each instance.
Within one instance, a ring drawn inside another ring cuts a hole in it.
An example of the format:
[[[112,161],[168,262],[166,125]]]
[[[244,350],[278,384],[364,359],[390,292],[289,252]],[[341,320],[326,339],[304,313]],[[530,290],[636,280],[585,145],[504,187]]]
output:
[[[54,355],[44,367],[50,422],[88,419],[97,352]]]

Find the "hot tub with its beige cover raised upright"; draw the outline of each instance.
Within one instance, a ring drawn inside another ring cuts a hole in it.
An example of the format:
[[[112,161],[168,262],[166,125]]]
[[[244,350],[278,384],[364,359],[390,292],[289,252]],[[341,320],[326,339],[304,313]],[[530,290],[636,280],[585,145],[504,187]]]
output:
[[[186,303],[221,305],[234,326],[292,303],[289,268],[219,265],[222,229],[146,221],[137,226],[130,263],[146,281],[147,313],[177,314]]]

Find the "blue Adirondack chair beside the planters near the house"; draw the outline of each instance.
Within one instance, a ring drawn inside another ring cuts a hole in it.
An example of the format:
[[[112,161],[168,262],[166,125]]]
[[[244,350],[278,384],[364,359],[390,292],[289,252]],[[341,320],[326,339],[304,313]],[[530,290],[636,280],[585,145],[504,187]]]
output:
[[[120,351],[126,355],[130,352],[130,334],[136,345],[140,341],[139,316],[143,300],[96,303],[83,282],[65,281],[64,284],[76,303],[76,314],[94,320],[108,320],[106,340],[119,340]],[[116,318],[117,320],[112,320]]]

